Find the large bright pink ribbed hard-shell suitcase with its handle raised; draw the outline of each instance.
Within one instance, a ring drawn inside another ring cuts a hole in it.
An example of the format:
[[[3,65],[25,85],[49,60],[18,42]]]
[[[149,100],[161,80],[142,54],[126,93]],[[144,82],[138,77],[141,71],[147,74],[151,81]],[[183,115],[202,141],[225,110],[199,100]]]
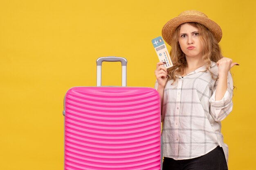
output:
[[[160,99],[148,87],[102,87],[103,61],[97,59],[97,87],[72,87],[64,98],[65,170],[160,170]]]

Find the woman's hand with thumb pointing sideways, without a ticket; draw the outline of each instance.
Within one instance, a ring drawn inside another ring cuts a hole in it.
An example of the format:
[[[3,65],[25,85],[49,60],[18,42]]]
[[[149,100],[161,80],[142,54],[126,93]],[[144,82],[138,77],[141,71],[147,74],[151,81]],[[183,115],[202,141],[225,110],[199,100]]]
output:
[[[217,63],[219,76],[227,76],[227,73],[234,65],[239,65],[238,63],[232,63],[232,59],[223,57]]]

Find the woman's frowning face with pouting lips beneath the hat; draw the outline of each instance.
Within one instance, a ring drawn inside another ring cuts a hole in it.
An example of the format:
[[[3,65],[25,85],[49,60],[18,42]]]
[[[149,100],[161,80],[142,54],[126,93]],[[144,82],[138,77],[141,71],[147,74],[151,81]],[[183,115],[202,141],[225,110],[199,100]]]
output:
[[[203,46],[200,38],[199,29],[185,23],[180,26],[179,44],[186,57],[202,58]]]

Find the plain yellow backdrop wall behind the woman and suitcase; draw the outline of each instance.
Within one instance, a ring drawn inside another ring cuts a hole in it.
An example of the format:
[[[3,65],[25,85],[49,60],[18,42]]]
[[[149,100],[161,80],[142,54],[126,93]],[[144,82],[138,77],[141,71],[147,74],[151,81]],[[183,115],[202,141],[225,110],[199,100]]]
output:
[[[232,68],[234,108],[222,133],[229,169],[256,169],[253,0],[1,0],[0,170],[62,170],[67,89],[95,86],[95,61],[104,56],[128,60],[128,86],[153,87],[151,39],[188,9],[220,25],[223,55],[240,64]],[[120,63],[102,69],[102,85],[121,85]]]

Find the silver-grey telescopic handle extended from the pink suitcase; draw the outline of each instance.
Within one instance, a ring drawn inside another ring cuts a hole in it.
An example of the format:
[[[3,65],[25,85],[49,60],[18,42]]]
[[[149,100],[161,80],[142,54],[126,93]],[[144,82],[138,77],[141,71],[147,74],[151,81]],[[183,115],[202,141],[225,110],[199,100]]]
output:
[[[123,57],[100,57],[96,60],[97,63],[97,86],[101,86],[101,65],[103,61],[117,62],[122,64],[122,86],[126,86],[126,66],[127,60]]]

